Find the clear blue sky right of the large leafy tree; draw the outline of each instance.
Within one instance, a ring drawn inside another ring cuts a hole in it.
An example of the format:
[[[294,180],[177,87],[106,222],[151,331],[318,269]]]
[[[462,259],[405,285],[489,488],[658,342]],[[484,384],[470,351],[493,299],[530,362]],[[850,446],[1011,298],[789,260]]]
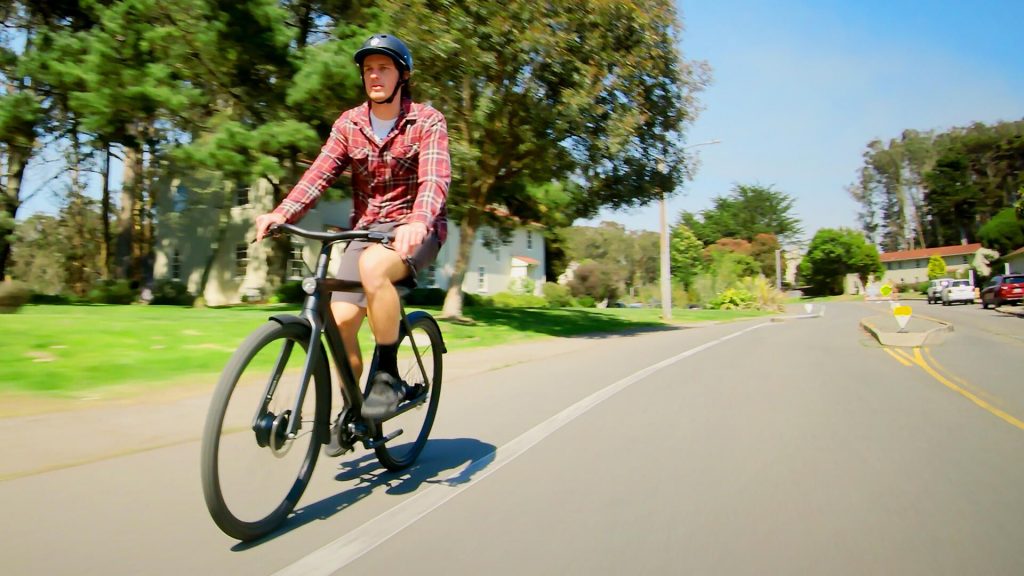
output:
[[[856,228],[846,192],[867,142],[1024,118],[1024,1],[681,0],[687,59],[713,83],[687,134],[699,169],[669,200],[674,222],[735,183],[796,200],[806,240]],[[656,231],[657,204],[598,218]]]

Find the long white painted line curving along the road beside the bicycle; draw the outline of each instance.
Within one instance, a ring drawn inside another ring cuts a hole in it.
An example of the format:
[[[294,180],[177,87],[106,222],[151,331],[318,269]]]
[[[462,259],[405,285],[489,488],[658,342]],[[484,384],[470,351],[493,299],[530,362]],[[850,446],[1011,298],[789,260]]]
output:
[[[469,482],[455,484],[451,482],[455,477],[446,479],[440,484],[435,484],[430,488],[420,492],[416,496],[406,500],[388,511],[378,516],[362,526],[352,530],[348,534],[341,536],[337,540],[330,542],[322,548],[314,550],[309,556],[299,560],[291,566],[287,566],[274,573],[274,576],[313,576],[334,574],[341,568],[347,566],[357,558],[382,544],[391,536],[394,536],[406,527],[411,526],[416,521],[430,513],[444,502],[458,496],[463,490],[487,478],[492,474],[501,469],[502,466],[515,460],[521,454],[536,446],[542,440],[554,434],[556,430],[587,413],[591,408],[601,404],[605,400],[626,389],[630,385],[646,378],[658,370],[671,366],[683,359],[689,358],[697,353],[721,344],[726,340],[735,338],[748,332],[757,330],[769,323],[756,324],[717,340],[690,348],[678,354],[668,360],[658,362],[636,372],[617,382],[608,384],[604,388],[588,396],[587,398],[541,422],[537,426],[522,434],[505,446],[495,450],[490,454],[473,461],[467,468],[458,474],[459,477],[471,478]]]

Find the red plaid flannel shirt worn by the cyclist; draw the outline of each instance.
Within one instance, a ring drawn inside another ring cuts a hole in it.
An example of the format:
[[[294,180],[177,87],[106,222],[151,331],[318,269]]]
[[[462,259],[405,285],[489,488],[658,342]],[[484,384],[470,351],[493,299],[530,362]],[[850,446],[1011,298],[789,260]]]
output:
[[[395,127],[382,142],[370,125],[370,104],[344,112],[299,183],[274,212],[299,220],[351,166],[353,229],[379,222],[423,222],[447,238],[452,182],[447,124],[433,108],[403,99]]]

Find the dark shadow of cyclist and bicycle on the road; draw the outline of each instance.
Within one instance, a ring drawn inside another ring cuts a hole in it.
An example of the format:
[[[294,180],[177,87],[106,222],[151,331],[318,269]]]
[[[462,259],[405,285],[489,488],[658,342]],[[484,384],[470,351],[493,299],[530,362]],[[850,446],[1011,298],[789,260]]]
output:
[[[281,529],[259,540],[239,542],[231,546],[231,550],[245,551],[311,522],[329,519],[381,487],[385,487],[385,494],[397,496],[415,492],[424,484],[464,484],[471,480],[473,474],[489,464],[496,450],[492,444],[468,438],[437,439],[427,442],[413,466],[397,472],[381,466],[373,452],[342,461],[338,464],[341,469],[335,475],[335,480],[339,483],[354,482],[355,486],[297,508]]]

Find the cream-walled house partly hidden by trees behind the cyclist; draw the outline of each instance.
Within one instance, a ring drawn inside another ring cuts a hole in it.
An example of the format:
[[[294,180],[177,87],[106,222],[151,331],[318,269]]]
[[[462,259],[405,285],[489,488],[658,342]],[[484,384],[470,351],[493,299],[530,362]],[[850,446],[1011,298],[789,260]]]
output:
[[[203,181],[173,178],[170,194],[163,195],[156,209],[154,279],[178,280],[210,305],[266,298],[268,256],[266,242],[253,244],[257,215],[273,208],[269,183],[204,188]],[[298,225],[310,230],[348,228],[351,200],[339,199],[332,189]],[[219,208],[218,208],[219,207]],[[545,276],[544,236],[520,228],[502,238],[496,231],[477,231],[469,266],[463,279],[466,293],[494,294],[532,286],[541,293]],[[420,271],[419,285],[446,290],[455,274],[459,249],[459,225],[449,222],[449,236],[428,270]],[[312,274],[319,243],[291,239],[288,280]],[[213,247],[217,246],[216,253]],[[336,262],[334,262],[336,264]],[[204,274],[207,277],[203,286]]]

